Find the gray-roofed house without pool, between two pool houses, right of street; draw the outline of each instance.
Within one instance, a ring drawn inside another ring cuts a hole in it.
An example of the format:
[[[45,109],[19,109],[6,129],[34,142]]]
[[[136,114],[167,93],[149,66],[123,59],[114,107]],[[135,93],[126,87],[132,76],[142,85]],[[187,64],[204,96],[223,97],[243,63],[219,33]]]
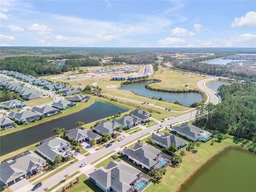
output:
[[[175,144],[178,150],[186,145],[186,140],[168,133],[165,133],[164,135],[153,134],[150,139],[155,142],[155,144],[158,144],[164,148],[168,148],[171,146],[171,144]]]

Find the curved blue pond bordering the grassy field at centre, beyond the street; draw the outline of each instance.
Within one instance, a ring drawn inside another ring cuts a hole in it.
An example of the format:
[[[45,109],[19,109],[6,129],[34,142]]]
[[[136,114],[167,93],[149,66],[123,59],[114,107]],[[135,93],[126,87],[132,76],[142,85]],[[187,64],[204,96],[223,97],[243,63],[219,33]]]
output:
[[[168,93],[161,91],[153,91],[145,88],[145,84],[148,82],[138,82],[131,84],[124,84],[122,87],[118,88],[119,90],[128,90],[136,94],[145,96],[145,97],[162,97],[166,101],[174,102],[178,101],[184,106],[189,106],[194,102],[200,102],[202,100],[202,95],[200,93]]]

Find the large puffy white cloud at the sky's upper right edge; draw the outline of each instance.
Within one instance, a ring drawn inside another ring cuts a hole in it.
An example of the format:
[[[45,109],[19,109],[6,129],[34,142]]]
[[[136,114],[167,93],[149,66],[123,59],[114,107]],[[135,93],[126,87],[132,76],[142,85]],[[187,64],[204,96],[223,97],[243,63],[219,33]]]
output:
[[[241,18],[235,18],[231,25],[232,27],[255,27],[256,26],[256,12],[250,11]]]

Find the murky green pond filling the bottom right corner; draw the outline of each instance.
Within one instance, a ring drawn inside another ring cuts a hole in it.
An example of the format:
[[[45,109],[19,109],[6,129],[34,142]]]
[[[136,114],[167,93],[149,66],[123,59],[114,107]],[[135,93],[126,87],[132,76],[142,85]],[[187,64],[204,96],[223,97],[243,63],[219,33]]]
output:
[[[230,147],[206,162],[178,192],[256,191],[256,154]]]

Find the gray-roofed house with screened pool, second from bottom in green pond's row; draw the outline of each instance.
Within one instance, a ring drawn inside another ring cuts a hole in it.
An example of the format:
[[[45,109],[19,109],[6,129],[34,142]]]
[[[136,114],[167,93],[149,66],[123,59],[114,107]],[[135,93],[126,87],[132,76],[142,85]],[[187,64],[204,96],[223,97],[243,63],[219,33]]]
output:
[[[172,156],[169,156],[160,150],[146,144],[136,143],[134,148],[128,148],[122,151],[123,155],[128,159],[140,164],[142,168],[148,170],[158,169],[157,166],[163,166],[169,163]]]

